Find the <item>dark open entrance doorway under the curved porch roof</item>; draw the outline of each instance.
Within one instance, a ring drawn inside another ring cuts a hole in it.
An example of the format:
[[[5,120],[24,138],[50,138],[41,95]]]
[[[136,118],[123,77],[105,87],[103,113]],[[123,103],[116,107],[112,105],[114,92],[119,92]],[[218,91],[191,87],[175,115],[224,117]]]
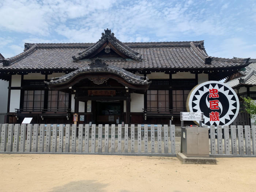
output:
[[[96,124],[116,124],[121,120],[121,101],[96,101]]]

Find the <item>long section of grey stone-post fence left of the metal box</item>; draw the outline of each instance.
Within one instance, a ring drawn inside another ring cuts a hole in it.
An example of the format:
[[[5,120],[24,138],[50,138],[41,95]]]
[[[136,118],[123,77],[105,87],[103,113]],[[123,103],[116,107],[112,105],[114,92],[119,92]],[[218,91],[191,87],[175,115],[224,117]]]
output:
[[[174,125],[170,127],[164,125],[163,128],[161,125],[157,125],[156,130],[154,125],[137,125],[137,138],[135,138],[134,124],[130,127],[130,137],[128,137],[128,124],[125,124],[125,126],[118,125],[117,130],[116,125],[112,124],[110,126],[111,134],[109,135],[110,127],[106,124],[105,134],[103,135],[102,124],[98,126],[95,124],[91,126],[89,124],[79,124],[77,139],[77,125],[75,124],[0,124],[0,153],[72,153],[176,157]],[[123,142],[122,131],[124,131]],[[148,132],[151,132],[151,134],[148,135]],[[155,132],[157,133],[156,138]],[[97,140],[96,133],[98,134]],[[151,140],[148,140],[149,136]]]

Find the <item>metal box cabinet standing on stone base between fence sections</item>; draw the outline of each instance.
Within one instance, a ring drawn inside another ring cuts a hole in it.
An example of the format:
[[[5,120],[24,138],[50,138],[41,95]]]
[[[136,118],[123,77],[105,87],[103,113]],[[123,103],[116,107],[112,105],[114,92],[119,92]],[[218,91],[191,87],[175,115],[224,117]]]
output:
[[[209,157],[208,128],[182,127],[181,153],[187,157]]]

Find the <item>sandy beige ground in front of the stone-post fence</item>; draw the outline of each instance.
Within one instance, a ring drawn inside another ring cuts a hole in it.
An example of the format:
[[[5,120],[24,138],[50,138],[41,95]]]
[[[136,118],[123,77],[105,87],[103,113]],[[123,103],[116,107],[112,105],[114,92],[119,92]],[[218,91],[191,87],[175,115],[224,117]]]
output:
[[[0,154],[0,191],[256,191],[256,158]]]

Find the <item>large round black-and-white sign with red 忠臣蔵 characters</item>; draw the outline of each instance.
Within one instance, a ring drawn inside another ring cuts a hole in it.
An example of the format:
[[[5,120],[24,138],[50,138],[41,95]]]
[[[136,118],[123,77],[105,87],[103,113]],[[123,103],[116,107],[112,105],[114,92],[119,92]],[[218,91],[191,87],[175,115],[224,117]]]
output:
[[[236,92],[226,83],[208,81],[190,91],[187,110],[203,112],[203,125],[229,125],[237,117],[239,100]]]

